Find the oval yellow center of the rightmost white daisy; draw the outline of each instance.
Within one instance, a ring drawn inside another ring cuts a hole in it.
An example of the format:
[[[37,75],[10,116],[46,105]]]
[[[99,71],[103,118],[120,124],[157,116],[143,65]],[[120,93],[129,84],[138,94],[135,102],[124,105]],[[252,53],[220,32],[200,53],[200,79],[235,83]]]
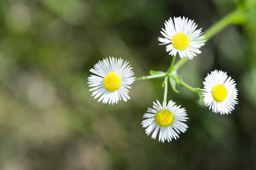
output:
[[[222,102],[228,95],[228,90],[224,84],[216,84],[212,89],[213,99],[217,102]]]

